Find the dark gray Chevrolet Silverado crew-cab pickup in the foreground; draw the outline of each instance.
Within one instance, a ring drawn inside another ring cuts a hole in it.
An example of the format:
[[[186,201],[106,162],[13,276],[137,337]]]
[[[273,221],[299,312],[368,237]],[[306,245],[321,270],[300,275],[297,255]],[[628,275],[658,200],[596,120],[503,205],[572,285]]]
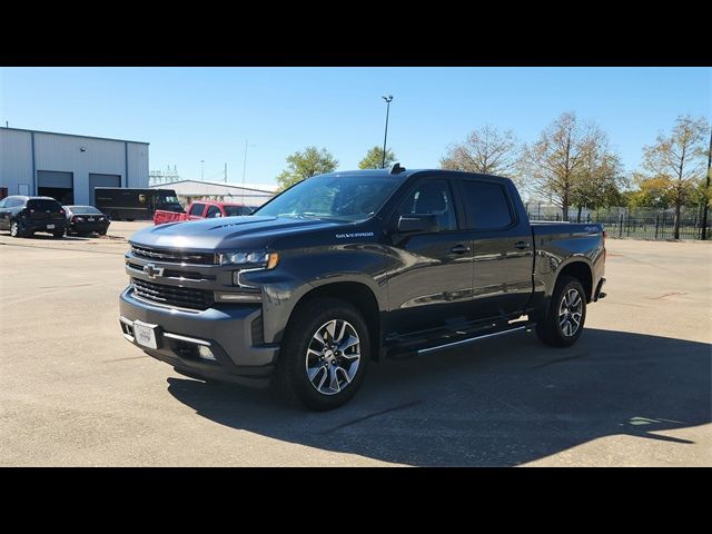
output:
[[[531,224],[507,178],[396,164],[314,176],[249,217],[146,228],[125,259],[126,339],[323,411],[372,360],[532,328],[571,346],[604,296],[605,233]]]

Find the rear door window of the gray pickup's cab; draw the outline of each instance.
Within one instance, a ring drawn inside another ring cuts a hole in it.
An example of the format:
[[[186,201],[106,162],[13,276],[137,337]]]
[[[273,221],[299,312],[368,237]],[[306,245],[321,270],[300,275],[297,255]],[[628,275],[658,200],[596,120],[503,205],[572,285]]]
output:
[[[462,186],[468,228],[488,230],[505,228],[513,222],[504,187],[488,181],[464,181]]]

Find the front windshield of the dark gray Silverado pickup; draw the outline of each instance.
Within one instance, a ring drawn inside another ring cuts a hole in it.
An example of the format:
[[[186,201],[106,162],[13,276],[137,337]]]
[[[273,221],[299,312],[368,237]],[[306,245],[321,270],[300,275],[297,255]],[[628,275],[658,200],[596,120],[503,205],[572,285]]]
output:
[[[254,215],[363,220],[374,215],[399,180],[393,177],[315,176],[283,192]]]

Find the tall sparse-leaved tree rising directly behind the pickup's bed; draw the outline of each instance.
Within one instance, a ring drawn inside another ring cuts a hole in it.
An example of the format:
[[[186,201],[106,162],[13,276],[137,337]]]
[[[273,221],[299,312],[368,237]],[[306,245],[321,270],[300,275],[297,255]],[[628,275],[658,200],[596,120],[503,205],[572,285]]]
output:
[[[567,219],[576,191],[595,168],[595,158],[606,154],[606,136],[594,122],[581,123],[572,111],[562,113],[536,142],[524,148],[526,187],[541,198],[550,198]]]

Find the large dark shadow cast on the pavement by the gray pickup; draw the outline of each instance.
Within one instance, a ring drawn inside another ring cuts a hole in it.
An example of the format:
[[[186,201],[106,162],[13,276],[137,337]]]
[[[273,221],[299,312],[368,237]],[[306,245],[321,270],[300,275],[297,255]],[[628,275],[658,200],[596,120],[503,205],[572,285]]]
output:
[[[510,466],[616,434],[690,446],[664,431],[712,421],[711,356],[710,344],[623,332],[586,329],[568,349],[515,334],[372,365],[350,404],[322,414],[187,378],[169,378],[168,390],[216,423],[309,447],[409,465]]]

